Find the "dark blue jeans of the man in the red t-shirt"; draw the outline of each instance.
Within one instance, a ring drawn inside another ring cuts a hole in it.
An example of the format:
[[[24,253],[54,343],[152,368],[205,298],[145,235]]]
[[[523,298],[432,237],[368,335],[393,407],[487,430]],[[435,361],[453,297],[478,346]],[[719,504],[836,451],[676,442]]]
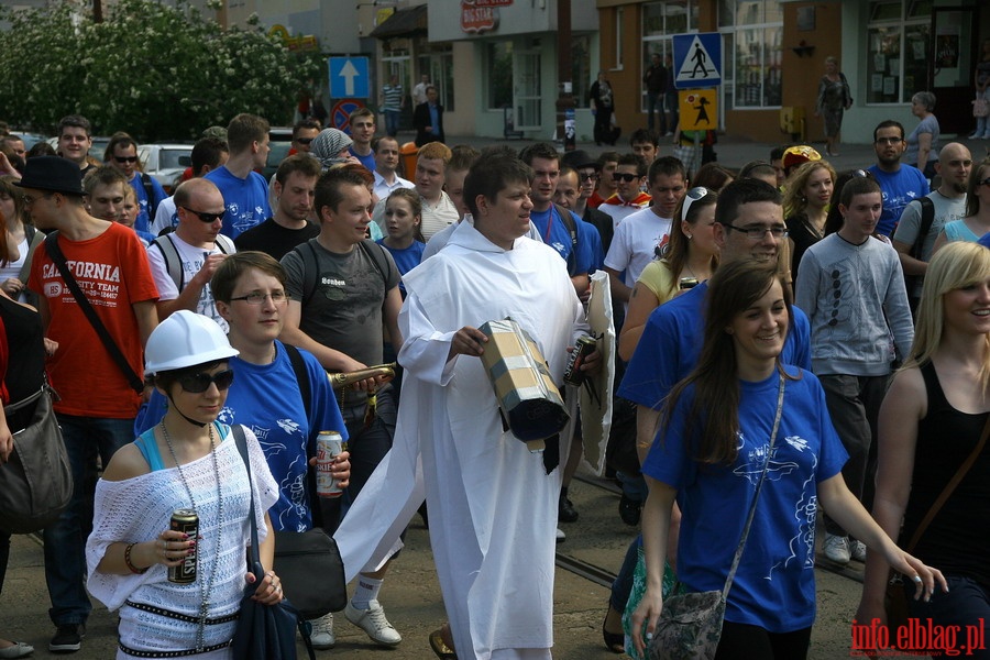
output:
[[[86,537],[92,529],[96,460],[110,457],[134,440],[134,419],[105,419],[57,415],[62,439],[73,471],[73,498],[58,520],[44,530],[45,582],[56,626],[85,624],[92,609],[86,594]]]

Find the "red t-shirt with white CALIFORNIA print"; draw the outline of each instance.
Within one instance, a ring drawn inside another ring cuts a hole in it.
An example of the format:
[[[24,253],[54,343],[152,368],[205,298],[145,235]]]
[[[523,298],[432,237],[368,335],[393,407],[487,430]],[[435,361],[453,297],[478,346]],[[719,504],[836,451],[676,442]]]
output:
[[[141,375],[144,351],[132,305],[156,300],[158,290],[138,234],[114,222],[86,241],[59,235],[58,246],[110,337]],[[34,254],[28,287],[45,297],[51,317],[47,337],[58,342],[58,350],[48,360],[52,386],[62,398],[55,410],[81,417],[134,417],[141,396],[103,348],[44,244]]]

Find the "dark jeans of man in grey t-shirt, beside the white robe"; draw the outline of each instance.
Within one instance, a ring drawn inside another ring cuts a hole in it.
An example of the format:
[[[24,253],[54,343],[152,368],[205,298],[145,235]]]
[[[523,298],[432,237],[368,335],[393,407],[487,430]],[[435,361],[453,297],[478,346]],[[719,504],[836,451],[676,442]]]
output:
[[[351,504],[371,479],[372,472],[392,449],[395,436],[397,410],[393,389],[386,385],[378,389],[375,417],[365,424],[367,406],[351,406],[341,409],[344,425],[348,427],[348,451],[351,454],[351,483],[344,494],[337,498],[321,498],[323,530],[333,535],[343,520]]]

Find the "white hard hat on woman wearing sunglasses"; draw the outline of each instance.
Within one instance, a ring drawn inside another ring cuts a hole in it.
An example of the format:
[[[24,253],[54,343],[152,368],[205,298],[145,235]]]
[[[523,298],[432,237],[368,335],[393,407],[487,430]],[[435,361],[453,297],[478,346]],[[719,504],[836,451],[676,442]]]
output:
[[[158,323],[147,338],[144,375],[227,360],[238,353],[217,321],[180,309]]]

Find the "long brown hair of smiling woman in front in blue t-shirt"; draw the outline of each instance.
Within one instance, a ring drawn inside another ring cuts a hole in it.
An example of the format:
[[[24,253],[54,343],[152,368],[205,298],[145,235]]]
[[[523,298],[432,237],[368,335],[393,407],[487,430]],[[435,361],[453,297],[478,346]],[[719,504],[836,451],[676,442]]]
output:
[[[678,383],[663,405],[661,428],[671,429],[671,419],[685,392],[693,387],[684,438],[700,463],[730,464],[736,460],[739,432],[739,380],[736,346],[726,328],[749,309],[773,285],[780,283],[788,308],[788,332],[794,318],[791,287],[777,271],[776,263],[737,260],[723,264],[712,276],[705,309],[705,339],[697,365]],[[780,358],[777,360],[778,369]]]

